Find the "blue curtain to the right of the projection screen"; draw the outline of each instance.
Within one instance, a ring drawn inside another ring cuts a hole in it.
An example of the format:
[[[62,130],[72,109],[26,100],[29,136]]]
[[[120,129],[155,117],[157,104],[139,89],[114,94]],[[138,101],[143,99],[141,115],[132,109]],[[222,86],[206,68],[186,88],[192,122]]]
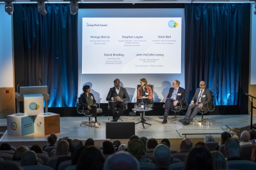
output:
[[[216,105],[239,104],[242,4],[185,4],[188,102],[204,80]]]

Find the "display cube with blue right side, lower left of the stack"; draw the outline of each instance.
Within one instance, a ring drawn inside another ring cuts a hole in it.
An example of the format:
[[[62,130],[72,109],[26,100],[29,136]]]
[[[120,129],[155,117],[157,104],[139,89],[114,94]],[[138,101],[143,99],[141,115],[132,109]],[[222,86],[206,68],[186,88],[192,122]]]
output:
[[[24,113],[16,113],[7,116],[7,133],[24,136],[34,132],[34,117]]]

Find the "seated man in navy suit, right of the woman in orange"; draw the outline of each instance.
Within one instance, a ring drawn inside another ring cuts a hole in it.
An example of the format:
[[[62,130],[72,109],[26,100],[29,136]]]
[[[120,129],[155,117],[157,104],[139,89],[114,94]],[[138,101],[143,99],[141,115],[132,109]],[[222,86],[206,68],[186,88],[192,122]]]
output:
[[[172,87],[169,90],[168,96],[164,100],[165,103],[165,111],[164,111],[164,120],[162,124],[167,123],[167,117],[169,111],[175,106],[184,104],[186,100],[186,91],[182,87],[179,87],[180,81],[174,80],[172,82]]]

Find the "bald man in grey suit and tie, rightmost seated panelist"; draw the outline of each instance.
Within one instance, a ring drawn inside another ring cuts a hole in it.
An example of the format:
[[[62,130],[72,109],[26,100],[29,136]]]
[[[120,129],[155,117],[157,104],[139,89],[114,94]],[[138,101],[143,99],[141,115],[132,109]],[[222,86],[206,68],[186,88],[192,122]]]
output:
[[[212,92],[206,89],[205,81],[200,81],[200,88],[196,89],[195,95],[188,106],[184,119],[180,119],[183,125],[189,125],[200,110],[207,111],[207,104],[212,101]]]

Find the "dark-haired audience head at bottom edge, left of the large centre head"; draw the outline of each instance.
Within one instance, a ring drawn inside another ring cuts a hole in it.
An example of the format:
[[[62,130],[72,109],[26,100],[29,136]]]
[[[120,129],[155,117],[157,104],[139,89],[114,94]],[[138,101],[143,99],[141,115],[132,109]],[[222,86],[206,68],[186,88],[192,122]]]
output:
[[[105,159],[98,148],[88,146],[82,151],[76,165],[76,170],[101,170]]]

